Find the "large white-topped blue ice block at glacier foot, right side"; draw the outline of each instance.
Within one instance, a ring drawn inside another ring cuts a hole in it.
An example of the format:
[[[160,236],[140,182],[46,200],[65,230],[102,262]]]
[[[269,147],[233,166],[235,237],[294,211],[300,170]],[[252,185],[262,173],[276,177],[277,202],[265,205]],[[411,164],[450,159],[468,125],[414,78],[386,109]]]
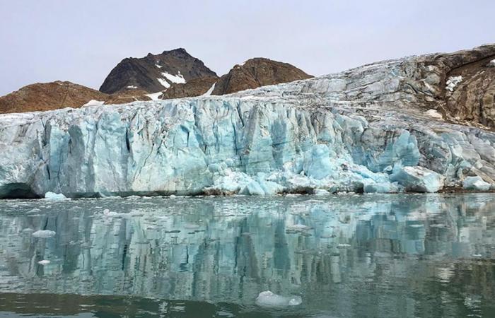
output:
[[[399,182],[406,191],[438,192],[443,188],[445,177],[425,167],[400,167],[390,175],[390,181]]]

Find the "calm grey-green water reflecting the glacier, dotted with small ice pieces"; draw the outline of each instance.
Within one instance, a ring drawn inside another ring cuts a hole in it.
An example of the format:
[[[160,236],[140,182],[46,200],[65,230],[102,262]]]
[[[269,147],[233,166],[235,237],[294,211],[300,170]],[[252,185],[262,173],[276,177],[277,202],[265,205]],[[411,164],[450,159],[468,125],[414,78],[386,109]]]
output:
[[[302,303],[256,305],[266,290]],[[0,317],[495,317],[494,299],[495,194],[0,201]]]

